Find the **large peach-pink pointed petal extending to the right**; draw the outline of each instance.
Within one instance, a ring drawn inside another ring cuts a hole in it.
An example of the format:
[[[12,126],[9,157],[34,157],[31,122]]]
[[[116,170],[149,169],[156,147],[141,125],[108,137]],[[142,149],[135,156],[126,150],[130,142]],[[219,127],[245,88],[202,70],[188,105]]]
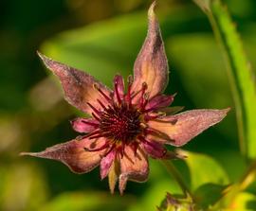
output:
[[[210,126],[220,122],[228,112],[229,109],[192,110],[149,121],[148,125],[156,131],[153,136],[157,136],[159,141],[179,147],[188,143],[194,136],[207,130]],[[158,135],[157,132],[159,132]]]

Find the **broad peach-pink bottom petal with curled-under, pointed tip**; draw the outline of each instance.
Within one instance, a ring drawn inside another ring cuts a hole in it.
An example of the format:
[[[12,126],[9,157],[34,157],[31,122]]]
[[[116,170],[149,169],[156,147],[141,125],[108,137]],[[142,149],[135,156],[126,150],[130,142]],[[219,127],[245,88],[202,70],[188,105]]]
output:
[[[137,153],[130,147],[124,149],[124,156],[119,158],[120,175],[119,191],[123,193],[128,180],[145,182],[148,179],[149,164],[148,158],[142,149],[138,148]]]

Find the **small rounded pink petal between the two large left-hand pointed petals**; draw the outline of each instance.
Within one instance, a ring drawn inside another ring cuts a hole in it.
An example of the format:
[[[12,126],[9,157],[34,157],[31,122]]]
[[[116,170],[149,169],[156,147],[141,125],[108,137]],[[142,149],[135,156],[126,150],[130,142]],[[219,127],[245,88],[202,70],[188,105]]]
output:
[[[99,122],[92,118],[76,118],[70,123],[76,132],[92,132],[99,127]]]

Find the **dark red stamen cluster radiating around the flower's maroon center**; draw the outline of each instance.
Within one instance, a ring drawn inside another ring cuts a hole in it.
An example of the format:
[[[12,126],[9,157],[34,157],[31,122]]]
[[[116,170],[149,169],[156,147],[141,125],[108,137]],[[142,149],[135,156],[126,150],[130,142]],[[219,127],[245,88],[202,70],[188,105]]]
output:
[[[102,100],[98,98],[97,101],[101,105],[101,109],[96,109],[95,106],[87,102],[97,123],[93,123],[95,130],[85,135],[85,137],[89,139],[104,137],[107,141],[99,149],[86,150],[109,149],[107,154],[115,150],[116,153],[118,152],[123,156],[125,146],[132,147],[136,154],[139,142],[147,142],[143,137],[147,133],[145,122],[150,118],[148,113],[154,109],[145,109],[148,103],[147,84],[143,82],[137,93],[131,92],[132,85],[132,77],[129,77],[127,93],[124,94],[123,79],[121,76],[116,76],[114,79],[115,89],[110,96],[106,95],[100,87],[94,85],[94,88],[109,104],[104,105]],[[86,121],[83,123],[92,124]]]

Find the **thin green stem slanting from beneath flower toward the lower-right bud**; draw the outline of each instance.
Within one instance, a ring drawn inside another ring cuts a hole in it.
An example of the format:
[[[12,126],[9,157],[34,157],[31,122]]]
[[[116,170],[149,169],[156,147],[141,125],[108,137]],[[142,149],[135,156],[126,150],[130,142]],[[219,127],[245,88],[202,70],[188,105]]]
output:
[[[180,172],[178,169],[174,166],[174,164],[171,161],[167,160],[161,160],[162,164],[166,167],[167,171],[174,177],[175,181],[180,186],[182,192],[184,195],[190,195],[192,197],[192,192],[190,188],[185,184]],[[193,197],[192,197],[193,199]]]

